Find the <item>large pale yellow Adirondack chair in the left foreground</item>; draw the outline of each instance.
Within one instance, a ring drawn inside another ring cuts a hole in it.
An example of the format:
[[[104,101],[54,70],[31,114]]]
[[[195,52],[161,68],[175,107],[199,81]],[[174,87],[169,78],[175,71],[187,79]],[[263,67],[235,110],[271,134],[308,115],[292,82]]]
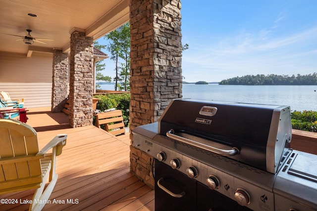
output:
[[[66,145],[66,134],[56,135],[39,151],[36,131],[16,120],[0,119],[0,195],[37,188],[30,211],[40,211],[55,183],[56,156]],[[47,153],[53,149],[52,153]],[[45,183],[50,183],[45,188]],[[40,202],[40,203],[37,203]]]

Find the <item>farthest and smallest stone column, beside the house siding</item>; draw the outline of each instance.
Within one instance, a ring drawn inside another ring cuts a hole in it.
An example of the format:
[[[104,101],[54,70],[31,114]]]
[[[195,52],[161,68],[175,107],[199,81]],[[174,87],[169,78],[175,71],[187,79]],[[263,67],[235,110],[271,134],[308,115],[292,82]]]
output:
[[[51,111],[61,112],[67,101],[68,54],[61,49],[53,49],[53,86]]]

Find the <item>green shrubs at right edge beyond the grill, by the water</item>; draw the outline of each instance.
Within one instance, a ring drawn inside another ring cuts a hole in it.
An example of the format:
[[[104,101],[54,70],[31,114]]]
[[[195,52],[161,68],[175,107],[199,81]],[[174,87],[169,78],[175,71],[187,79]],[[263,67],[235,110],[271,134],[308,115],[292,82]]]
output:
[[[291,119],[293,129],[317,132],[317,111],[294,111]]]

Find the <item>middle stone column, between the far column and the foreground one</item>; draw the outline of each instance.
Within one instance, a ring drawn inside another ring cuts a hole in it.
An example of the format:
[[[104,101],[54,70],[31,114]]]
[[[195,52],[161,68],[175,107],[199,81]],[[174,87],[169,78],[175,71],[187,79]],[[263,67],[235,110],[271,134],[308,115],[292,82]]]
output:
[[[73,31],[70,36],[69,125],[93,124],[94,90],[93,38],[85,32]]]

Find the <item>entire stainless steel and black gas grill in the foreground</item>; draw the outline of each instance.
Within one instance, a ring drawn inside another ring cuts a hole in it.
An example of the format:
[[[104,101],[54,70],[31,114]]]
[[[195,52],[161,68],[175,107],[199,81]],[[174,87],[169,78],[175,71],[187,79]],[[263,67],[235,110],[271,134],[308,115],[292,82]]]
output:
[[[317,156],[291,136],[288,106],[174,100],[133,146],[156,158],[156,211],[314,211]]]

